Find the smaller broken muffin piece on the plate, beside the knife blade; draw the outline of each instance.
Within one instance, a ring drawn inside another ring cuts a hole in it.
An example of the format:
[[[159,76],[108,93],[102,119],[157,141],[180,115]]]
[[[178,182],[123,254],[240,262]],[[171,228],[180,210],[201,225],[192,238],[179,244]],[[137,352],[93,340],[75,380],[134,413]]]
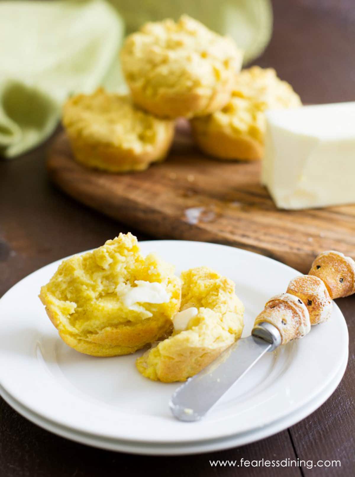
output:
[[[244,306],[232,280],[207,267],[182,274],[181,313],[171,337],[137,359],[143,376],[154,381],[185,381],[199,373],[243,331]],[[185,323],[183,323],[185,321]]]

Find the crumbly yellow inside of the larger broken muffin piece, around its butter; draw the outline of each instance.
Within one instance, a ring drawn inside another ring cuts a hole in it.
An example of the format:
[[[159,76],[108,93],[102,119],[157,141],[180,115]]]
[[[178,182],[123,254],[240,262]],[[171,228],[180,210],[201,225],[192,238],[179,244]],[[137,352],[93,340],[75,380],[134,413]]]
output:
[[[124,297],[137,280],[160,283],[169,300],[128,306]],[[154,254],[144,258],[133,235],[120,234],[93,252],[62,262],[40,298],[58,330],[90,340],[103,330],[146,320],[158,328],[165,322],[170,326],[180,304],[180,280]]]

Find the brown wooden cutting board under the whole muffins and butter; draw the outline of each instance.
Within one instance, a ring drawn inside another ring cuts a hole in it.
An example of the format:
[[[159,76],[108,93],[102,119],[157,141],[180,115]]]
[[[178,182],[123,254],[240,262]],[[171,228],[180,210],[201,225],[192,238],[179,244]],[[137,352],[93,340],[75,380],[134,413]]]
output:
[[[144,172],[108,174],[81,166],[65,133],[54,140],[47,165],[67,194],[155,237],[232,245],[303,273],[322,250],[355,259],[355,205],[278,210],[259,183],[259,162],[203,156],[183,122],[168,159]]]

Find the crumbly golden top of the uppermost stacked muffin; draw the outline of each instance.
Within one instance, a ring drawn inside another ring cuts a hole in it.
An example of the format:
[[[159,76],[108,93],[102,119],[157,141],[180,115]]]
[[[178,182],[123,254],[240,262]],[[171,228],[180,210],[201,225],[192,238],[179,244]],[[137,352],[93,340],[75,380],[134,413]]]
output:
[[[121,60],[127,81],[154,97],[161,90],[214,88],[238,71],[242,52],[232,39],[183,15],[177,22],[146,23],[129,35]]]

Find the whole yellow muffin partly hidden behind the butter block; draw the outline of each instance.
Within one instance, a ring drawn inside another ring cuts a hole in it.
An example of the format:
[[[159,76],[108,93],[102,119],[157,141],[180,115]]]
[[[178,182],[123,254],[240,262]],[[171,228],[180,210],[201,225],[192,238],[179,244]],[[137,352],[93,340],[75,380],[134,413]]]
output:
[[[214,114],[191,121],[200,149],[219,159],[261,159],[267,109],[301,106],[290,84],[275,70],[253,66],[237,74],[229,102]]]

